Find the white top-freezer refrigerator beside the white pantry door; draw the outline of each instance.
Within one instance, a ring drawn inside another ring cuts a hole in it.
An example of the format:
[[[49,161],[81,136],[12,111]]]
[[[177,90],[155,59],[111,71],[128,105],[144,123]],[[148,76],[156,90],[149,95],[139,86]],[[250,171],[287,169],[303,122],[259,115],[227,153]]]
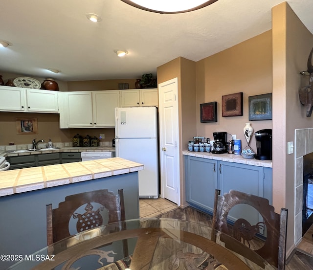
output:
[[[144,165],[138,172],[141,198],[159,195],[157,127],[156,107],[115,108],[115,156]]]

